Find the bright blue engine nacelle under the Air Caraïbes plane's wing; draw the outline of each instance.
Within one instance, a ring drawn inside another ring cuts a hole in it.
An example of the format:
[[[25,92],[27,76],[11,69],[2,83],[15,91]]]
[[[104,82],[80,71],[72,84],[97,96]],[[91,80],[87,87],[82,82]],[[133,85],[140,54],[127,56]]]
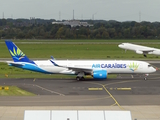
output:
[[[94,79],[106,79],[107,78],[107,70],[94,70],[93,71]]]

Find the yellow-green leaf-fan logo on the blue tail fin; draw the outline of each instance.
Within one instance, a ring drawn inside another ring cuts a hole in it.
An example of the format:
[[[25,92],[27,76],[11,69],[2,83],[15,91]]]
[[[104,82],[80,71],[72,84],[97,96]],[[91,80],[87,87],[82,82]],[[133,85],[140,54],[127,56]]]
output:
[[[9,52],[11,53],[12,57],[14,57],[17,60],[21,60],[25,56],[25,54],[19,48],[17,48],[16,50],[13,47],[13,51],[9,50]]]

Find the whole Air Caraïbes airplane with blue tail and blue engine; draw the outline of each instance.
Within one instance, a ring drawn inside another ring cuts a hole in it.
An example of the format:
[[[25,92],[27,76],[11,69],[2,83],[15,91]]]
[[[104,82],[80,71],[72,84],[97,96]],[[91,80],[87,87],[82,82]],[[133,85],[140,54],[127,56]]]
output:
[[[91,75],[94,79],[106,79],[108,74],[145,74],[156,69],[147,62],[133,60],[36,60],[29,59],[12,41],[5,41],[13,61],[8,65],[46,73],[76,75],[76,80],[84,80],[84,76]]]

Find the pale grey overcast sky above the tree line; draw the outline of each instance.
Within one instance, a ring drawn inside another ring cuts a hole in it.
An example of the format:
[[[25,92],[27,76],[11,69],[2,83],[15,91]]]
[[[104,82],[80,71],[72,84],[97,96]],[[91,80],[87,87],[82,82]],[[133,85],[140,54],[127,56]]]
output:
[[[160,22],[160,0],[0,0],[0,19]]]

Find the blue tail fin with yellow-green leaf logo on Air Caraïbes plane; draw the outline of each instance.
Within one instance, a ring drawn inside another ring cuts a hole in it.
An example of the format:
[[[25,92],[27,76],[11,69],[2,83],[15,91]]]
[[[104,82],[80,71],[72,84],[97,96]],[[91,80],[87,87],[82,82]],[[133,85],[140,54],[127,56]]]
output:
[[[14,62],[29,62],[35,64],[12,41],[5,41],[5,43]]]

